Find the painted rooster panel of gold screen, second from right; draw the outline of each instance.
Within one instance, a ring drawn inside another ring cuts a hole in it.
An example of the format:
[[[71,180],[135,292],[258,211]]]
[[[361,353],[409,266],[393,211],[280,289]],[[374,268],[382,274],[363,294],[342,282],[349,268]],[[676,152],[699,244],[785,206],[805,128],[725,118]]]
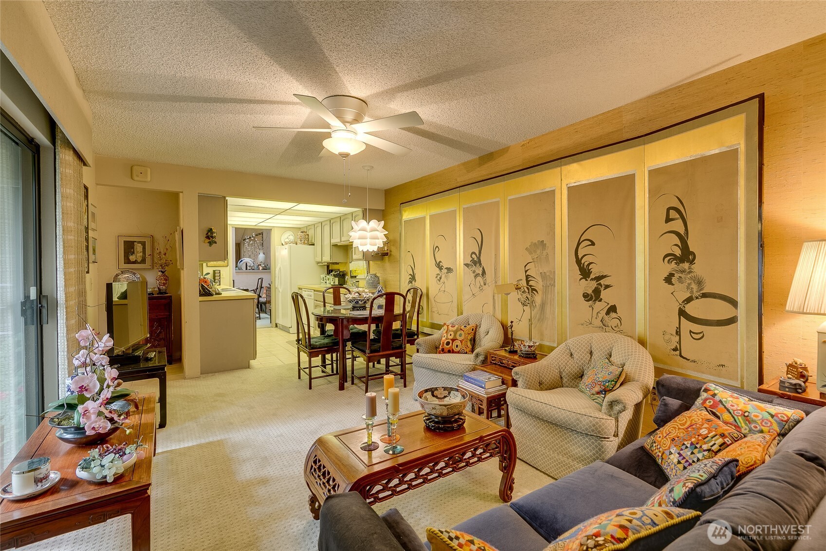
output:
[[[635,338],[635,173],[567,186],[568,338]]]

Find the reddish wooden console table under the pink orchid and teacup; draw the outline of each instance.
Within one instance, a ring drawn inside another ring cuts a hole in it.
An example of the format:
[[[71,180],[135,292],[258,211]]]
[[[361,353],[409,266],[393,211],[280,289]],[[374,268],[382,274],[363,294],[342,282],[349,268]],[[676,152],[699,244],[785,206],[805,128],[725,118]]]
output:
[[[133,405],[131,411],[132,434],[119,430],[107,438],[110,444],[141,438],[147,446],[144,458],[111,483],[87,482],[75,476],[75,467],[92,447],[60,442],[55,437],[57,429],[43,420],[2,473],[0,483],[5,485],[12,479],[13,465],[41,456],[51,458],[51,468],[60,472],[60,482],[40,496],[0,503],[0,549],[23,547],[116,516],[132,515],[132,549],[150,551],[154,405],[154,394],[138,395],[137,406]]]

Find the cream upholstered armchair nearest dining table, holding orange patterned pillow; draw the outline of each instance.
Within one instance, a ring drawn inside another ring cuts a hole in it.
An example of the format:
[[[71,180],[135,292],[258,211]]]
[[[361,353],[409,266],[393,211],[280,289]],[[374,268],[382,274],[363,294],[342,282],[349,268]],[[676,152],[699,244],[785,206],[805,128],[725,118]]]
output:
[[[463,314],[451,319],[452,325],[477,325],[472,354],[437,354],[442,332],[417,339],[413,354],[413,395],[429,386],[456,386],[468,371],[487,362],[487,352],[502,346],[502,324],[491,314]]]

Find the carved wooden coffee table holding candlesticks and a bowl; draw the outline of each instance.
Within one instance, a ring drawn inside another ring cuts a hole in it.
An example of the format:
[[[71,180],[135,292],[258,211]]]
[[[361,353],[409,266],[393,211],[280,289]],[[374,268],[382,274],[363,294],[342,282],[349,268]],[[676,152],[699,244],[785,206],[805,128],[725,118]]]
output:
[[[313,518],[318,520],[321,504],[330,494],[358,491],[373,505],[491,458],[499,458],[502,472],[499,497],[510,501],[516,467],[516,443],[510,430],[466,411],[462,429],[437,433],[425,427],[424,414],[399,416],[396,430],[405,451],[398,455],[384,453],[384,444],[373,452],[359,448],[367,439],[363,424],[316,439],[304,462]],[[376,419],[373,435],[381,436],[386,426],[386,419]]]

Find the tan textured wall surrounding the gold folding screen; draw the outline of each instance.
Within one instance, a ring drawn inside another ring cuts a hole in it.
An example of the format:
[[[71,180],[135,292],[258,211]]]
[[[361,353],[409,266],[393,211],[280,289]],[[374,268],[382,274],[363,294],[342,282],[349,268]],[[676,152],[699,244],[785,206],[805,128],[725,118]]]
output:
[[[655,132],[714,109],[765,94],[763,132],[763,377],[791,357],[816,360],[822,316],[785,311],[800,247],[826,237],[826,35],[710,74],[539,137],[411,180],[385,191],[390,252],[370,270],[399,285],[399,205]]]

